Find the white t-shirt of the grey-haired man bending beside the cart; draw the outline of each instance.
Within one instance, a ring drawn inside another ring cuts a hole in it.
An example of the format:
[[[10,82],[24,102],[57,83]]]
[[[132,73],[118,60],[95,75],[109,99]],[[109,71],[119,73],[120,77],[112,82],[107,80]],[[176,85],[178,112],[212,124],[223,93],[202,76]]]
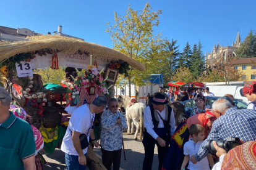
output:
[[[73,141],[71,139],[72,132],[77,131],[81,134],[86,134],[89,141],[91,128],[93,126],[93,121],[95,118],[95,113],[91,113],[87,105],[82,105],[77,108],[69,120],[69,126],[67,126],[66,134],[63,138],[61,150],[69,155],[78,156],[75,150]],[[87,148],[83,150],[83,154],[87,153]]]

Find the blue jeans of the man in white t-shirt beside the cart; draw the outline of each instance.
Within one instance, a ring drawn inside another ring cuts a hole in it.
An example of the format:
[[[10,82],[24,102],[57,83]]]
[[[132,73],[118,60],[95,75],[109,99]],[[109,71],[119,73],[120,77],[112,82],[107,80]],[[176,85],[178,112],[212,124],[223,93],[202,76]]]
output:
[[[85,153],[85,157],[87,157],[87,153]],[[86,168],[86,166],[79,164],[79,156],[65,153],[65,160],[67,170],[85,170]]]

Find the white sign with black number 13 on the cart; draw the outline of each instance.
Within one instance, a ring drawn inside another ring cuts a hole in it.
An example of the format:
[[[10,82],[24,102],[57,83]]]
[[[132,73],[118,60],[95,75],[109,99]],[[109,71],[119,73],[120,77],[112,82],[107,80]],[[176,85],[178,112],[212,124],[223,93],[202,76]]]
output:
[[[16,70],[19,78],[33,76],[31,62],[16,63]]]

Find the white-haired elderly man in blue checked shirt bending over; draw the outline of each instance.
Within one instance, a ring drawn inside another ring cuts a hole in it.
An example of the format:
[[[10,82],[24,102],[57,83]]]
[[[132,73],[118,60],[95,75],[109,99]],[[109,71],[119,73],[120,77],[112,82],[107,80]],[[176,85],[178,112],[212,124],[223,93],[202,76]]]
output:
[[[256,138],[256,111],[237,110],[226,99],[219,99],[213,103],[216,121],[211,132],[203,142],[196,155],[191,156],[191,161],[197,163],[208,155],[205,148],[207,140],[226,140],[228,137],[239,137],[245,142]]]

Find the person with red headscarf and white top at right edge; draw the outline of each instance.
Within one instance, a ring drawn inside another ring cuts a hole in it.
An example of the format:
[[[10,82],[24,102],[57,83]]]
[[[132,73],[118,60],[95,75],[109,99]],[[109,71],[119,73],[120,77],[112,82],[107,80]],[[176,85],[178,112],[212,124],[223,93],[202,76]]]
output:
[[[242,93],[250,101],[247,109],[256,110],[256,81],[247,81],[242,88]]]

